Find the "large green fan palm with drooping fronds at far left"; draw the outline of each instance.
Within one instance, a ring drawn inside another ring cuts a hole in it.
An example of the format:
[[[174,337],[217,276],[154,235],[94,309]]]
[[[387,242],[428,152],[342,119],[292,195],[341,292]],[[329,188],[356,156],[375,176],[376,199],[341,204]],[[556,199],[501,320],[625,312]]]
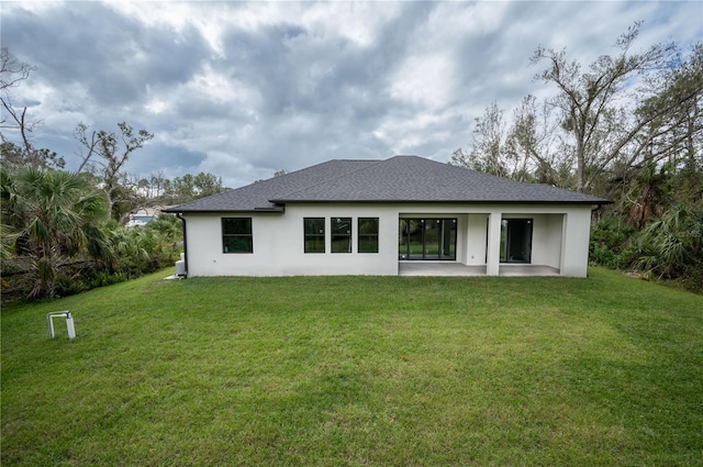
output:
[[[14,254],[29,258],[33,287],[27,298],[54,294],[57,271],[85,256],[112,263],[99,223],[104,197],[80,174],[35,167],[0,170],[2,224],[12,231]]]

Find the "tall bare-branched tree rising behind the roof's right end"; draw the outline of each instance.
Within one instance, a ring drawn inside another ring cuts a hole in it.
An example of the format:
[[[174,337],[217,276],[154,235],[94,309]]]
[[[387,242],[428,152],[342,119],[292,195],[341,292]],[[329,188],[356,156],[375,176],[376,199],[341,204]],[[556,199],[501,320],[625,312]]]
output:
[[[559,89],[550,102],[561,111],[563,129],[572,136],[579,191],[588,191],[623,152],[632,154],[628,146],[641,138],[643,132],[654,131],[649,136],[654,137],[661,131],[659,123],[688,105],[703,87],[703,82],[692,81],[671,87],[662,79],[672,64],[676,67],[676,44],[655,44],[643,53],[632,53],[640,25],[635,23],[618,37],[617,55],[602,55],[584,71],[580,63],[567,59],[565,49],[538,47],[532,57],[533,63],[549,64],[536,78]],[[636,111],[641,102],[652,105]]]

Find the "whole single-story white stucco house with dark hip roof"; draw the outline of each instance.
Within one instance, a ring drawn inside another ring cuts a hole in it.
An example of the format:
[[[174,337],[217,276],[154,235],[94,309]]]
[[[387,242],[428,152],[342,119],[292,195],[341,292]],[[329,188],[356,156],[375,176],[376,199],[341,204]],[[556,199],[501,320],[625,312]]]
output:
[[[399,275],[443,265],[585,277],[609,200],[416,156],[330,160],[169,208],[186,275]]]

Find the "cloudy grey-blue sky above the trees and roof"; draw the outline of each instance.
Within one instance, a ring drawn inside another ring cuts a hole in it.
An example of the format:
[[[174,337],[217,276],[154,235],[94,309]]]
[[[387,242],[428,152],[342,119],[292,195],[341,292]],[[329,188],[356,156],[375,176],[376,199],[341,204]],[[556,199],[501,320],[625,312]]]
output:
[[[635,51],[703,40],[701,1],[0,1],[2,47],[35,67],[11,98],[41,120],[36,147],[75,168],[78,122],[126,122],[155,135],[133,176],[231,188],[330,159],[446,162],[492,102],[554,94],[538,46],[588,65],[636,21]]]

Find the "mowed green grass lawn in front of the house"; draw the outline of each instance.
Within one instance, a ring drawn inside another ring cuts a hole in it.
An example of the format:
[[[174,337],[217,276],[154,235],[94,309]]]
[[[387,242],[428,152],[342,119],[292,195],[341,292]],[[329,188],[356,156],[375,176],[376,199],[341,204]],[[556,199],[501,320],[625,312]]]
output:
[[[166,275],[2,310],[3,467],[703,465],[701,296]]]

